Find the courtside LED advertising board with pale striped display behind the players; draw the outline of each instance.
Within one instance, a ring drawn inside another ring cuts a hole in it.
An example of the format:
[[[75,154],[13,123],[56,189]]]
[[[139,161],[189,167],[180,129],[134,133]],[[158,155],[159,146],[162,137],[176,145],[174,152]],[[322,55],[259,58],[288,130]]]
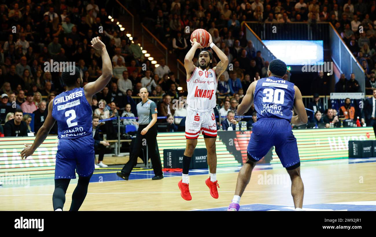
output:
[[[341,159],[348,157],[349,140],[375,140],[372,127],[341,127],[331,129],[294,129],[300,160]],[[217,163],[219,166],[238,166],[246,162],[247,145],[252,131],[218,131]],[[57,136],[47,136],[32,157],[21,160],[24,144],[32,144],[35,137],[0,138],[0,176],[25,175],[51,177],[55,172],[58,146]],[[159,155],[163,165],[163,150],[185,149],[184,132],[161,132],[157,136]],[[205,148],[203,136],[197,140],[197,148]],[[280,163],[274,147],[260,163]]]

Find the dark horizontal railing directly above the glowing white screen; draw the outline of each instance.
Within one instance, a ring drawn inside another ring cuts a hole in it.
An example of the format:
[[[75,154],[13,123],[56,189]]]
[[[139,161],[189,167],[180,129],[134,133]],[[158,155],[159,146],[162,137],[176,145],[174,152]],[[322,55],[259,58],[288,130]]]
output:
[[[246,21],[242,24],[247,24],[262,40],[323,40],[324,46],[329,47],[327,22],[308,24]]]

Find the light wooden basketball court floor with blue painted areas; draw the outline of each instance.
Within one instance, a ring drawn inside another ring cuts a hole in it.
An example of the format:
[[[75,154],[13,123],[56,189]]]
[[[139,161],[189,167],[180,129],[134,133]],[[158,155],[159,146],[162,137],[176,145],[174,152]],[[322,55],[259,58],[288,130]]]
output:
[[[94,173],[82,211],[188,211],[226,210],[234,195],[240,167],[220,167],[217,179],[219,198],[210,196],[205,179],[208,171],[190,171],[191,201],[180,196],[177,187],[179,172],[164,172],[162,180],[151,180],[152,170],[136,170],[132,180],[120,180],[116,170],[103,169]],[[307,161],[301,163],[305,187],[303,210],[336,210],[325,204],[344,204],[337,210],[376,210],[376,158]],[[109,181],[106,181],[109,180]],[[76,187],[71,180],[64,210],[69,210],[71,195]],[[273,210],[294,206],[290,193],[291,181],[280,164],[259,164],[241,198],[241,210]],[[53,177],[33,180],[27,187],[0,186],[0,210],[52,210]],[[263,208],[254,206],[271,206]],[[268,204],[268,205],[265,205]],[[347,204],[351,208],[347,208]],[[248,207],[248,208],[243,208]],[[254,207],[254,208],[253,208]]]

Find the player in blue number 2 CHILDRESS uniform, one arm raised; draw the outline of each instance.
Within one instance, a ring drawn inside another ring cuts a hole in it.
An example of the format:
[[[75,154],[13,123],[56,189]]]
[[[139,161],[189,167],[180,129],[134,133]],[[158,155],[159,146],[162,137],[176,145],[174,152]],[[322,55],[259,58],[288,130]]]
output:
[[[51,128],[58,122],[58,151],[56,153],[55,191],[52,196],[53,210],[62,211],[65,193],[71,178],[78,183],[72,194],[70,211],[77,211],[88,191],[91,175],[94,171],[94,139],[92,138],[92,96],[100,92],[112,77],[111,59],[105,44],[99,37],[91,40],[91,46],[102,53],[102,75],[94,82],[82,87],[82,75],[77,67],[68,66],[61,78],[67,90],[49,103],[48,115],[38,130],[31,146],[21,152],[21,158],[31,156],[42,144]],[[71,75],[73,74],[73,75]]]

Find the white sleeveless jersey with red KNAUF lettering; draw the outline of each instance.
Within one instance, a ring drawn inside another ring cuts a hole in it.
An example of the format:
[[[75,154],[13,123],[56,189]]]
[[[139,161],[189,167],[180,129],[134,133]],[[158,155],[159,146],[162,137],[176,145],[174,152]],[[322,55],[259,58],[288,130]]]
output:
[[[209,110],[215,107],[215,92],[218,80],[213,69],[208,71],[196,67],[187,81],[187,104],[198,110]]]

